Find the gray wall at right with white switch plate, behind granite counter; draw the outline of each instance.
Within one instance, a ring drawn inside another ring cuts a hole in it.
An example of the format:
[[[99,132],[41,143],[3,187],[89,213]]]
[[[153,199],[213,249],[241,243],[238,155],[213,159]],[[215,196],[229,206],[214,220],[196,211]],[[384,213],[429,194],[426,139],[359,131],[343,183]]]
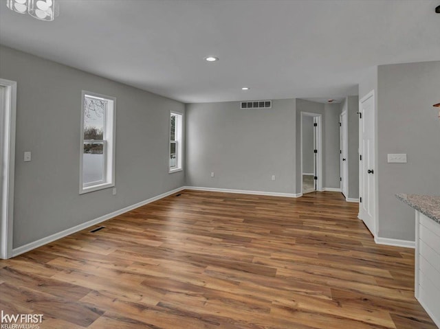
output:
[[[415,239],[414,210],[395,193],[440,195],[440,61],[378,67],[377,174],[379,231],[384,238]],[[408,163],[387,163],[406,153]]]

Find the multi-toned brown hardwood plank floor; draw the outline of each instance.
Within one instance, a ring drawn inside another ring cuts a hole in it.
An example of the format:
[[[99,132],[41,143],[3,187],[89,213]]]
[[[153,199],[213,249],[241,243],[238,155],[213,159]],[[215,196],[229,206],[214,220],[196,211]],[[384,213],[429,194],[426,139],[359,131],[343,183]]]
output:
[[[414,251],[375,245],[358,204],[185,190],[11,260],[0,309],[47,328],[437,328]]]

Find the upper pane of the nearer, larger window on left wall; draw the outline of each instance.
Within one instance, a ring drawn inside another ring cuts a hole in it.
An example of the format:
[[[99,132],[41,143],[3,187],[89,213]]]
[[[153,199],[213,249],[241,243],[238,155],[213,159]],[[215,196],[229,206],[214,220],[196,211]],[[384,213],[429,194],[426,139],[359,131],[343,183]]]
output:
[[[107,100],[84,98],[84,139],[104,139]]]

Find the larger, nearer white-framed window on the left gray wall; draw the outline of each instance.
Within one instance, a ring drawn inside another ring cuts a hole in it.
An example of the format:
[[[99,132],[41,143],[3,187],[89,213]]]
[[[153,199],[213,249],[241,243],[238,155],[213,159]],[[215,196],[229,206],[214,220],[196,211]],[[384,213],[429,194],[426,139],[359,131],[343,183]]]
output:
[[[116,99],[83,91],[80,194],[115,185]]]

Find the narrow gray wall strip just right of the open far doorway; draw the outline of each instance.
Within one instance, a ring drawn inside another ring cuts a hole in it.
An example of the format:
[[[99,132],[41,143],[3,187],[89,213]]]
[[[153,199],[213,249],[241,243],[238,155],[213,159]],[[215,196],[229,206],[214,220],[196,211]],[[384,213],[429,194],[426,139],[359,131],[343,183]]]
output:
[[[324,188],[340,188],[340,104],[325,104]]]

